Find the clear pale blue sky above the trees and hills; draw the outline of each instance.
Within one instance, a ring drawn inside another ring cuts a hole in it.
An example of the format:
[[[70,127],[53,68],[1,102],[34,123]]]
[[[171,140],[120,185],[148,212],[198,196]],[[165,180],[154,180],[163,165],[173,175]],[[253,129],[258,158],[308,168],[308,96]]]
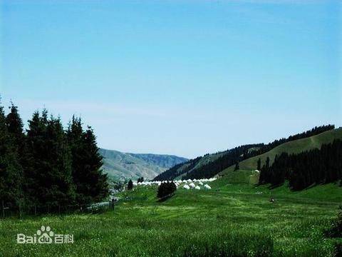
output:
[[[2,102],[195,157],[342,125],[341,1],[0,1]]]

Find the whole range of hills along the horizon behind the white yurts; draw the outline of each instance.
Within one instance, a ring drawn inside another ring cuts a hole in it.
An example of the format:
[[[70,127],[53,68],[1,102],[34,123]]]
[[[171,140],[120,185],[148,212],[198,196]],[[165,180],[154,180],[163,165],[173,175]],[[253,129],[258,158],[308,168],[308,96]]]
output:
[[[312,148],[320,148],[323,143],[331,143],[334,139],[342,138],[342,129],[332,126],[321,126],[299,133],[289,138],[281,138],[264,144],[250,144],[238,146],[227,151],[206,154],[192,160],[173,155],[152,153],[123,153],[120,151],[100,148],[103,156],[103,170],[110,178],[172,180],[180,178],[202,178],[212,176],[231,176],[236,169],[250,173],[257,168],[257,161],[261,159],[264,165],[269,156],[271,163],[280,153],[299,153]],[[248,172],[247,172],[248,171]]]

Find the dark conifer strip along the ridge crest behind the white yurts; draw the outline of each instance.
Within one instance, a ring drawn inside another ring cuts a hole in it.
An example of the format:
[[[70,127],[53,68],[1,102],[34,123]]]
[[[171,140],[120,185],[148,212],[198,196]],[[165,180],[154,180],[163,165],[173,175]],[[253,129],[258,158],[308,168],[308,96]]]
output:
[[[289,136],[288,138],[281,138],[279,140],[275,140],[271,143],[255,143],[249,144],[244,146],[237,146],[235,148],[229,149],[224,152],[217,152],[220,153],[221,156],[214,161],[209,161],[209,163],[204,164],[203,166],[199,166],[198,168],[195,167],[197,163],[203,158],[199,156],[195,159],[187,161],[186,163],[180,163],[176,166],[168,169],[167,171],[159,174],[157,177],[154,178],[155,181],[163,181],[163,180],[172,180],[180,174],[185,173],[185,179],[199,179],[199,178],[212,178],[212,176],[217,175],[220,171],[223,171],[225,168],[229,166],[235,165],[234,170],[239,168],[238,163],[240,161],[244,161],[247,158],[251,158],[254,156],[258,156],[262,153],[266,153],[270,151],[272,148],[276,146],[280,146],[282,143],[286,143],[289,141],[294,141],[301,138],[306,138],[309,136],[315,136],[319,133],[323,133],[324,131],[329,131],[331,129],[335,129],[334,125],[323,125],[323,126],[316,126],[309,131],[305,131],[302,133],[298,133],[294,136]],[[207,156],[204,155],[204,156]],[[184,165],[186,164],[186,165]],[[184,167],[182,167],[184,165]],[[260,163],[261,166],[261,163]],[[259,166],[258,169],[261,167]]]

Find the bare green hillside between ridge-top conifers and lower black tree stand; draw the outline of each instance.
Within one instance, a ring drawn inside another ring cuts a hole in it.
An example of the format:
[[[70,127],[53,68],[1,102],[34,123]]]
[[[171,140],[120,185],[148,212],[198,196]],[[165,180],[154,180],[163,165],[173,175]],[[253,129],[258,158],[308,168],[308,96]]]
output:
[[[234,166],[229,166],[229,168],[224,169],[218,176],[224,176],[223,178],[227,183],[249,183],[249,176],[252,175],[254,177],[254,183],[257,183],[259,178],[255,178],[255,176],[259,174],[254,173],[253,171],[257,168],[257,161],[259,158],[261,159],[261,166],[264,165],[267,157],[270,158],[271,164],[274,162],[275,156],[280,155],[281,153],[300,153],[313,148],[321,148],[323,143],[331,143],[334,139],[342,140],[342,128],[325,131],[316,136],[286,142],[280,146],[276,146],[271,149],[271,151],[241,161],[239,163],[239,168],[244,174],[248,174],[248,176],[242,176],[242,174],[239,174],[239,171],[234,171]],[[241,179],[239,180],[237,177]]]

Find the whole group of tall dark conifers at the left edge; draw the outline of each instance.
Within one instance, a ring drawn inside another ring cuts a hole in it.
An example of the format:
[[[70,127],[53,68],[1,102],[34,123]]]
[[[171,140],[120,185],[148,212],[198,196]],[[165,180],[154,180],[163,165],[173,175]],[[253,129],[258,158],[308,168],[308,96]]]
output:
[[[26,131],[18,108],[0,106],[0,202],[5,206],[66,206],[108,196],[95,134],[73,116],[68,128],[44,109]]]

